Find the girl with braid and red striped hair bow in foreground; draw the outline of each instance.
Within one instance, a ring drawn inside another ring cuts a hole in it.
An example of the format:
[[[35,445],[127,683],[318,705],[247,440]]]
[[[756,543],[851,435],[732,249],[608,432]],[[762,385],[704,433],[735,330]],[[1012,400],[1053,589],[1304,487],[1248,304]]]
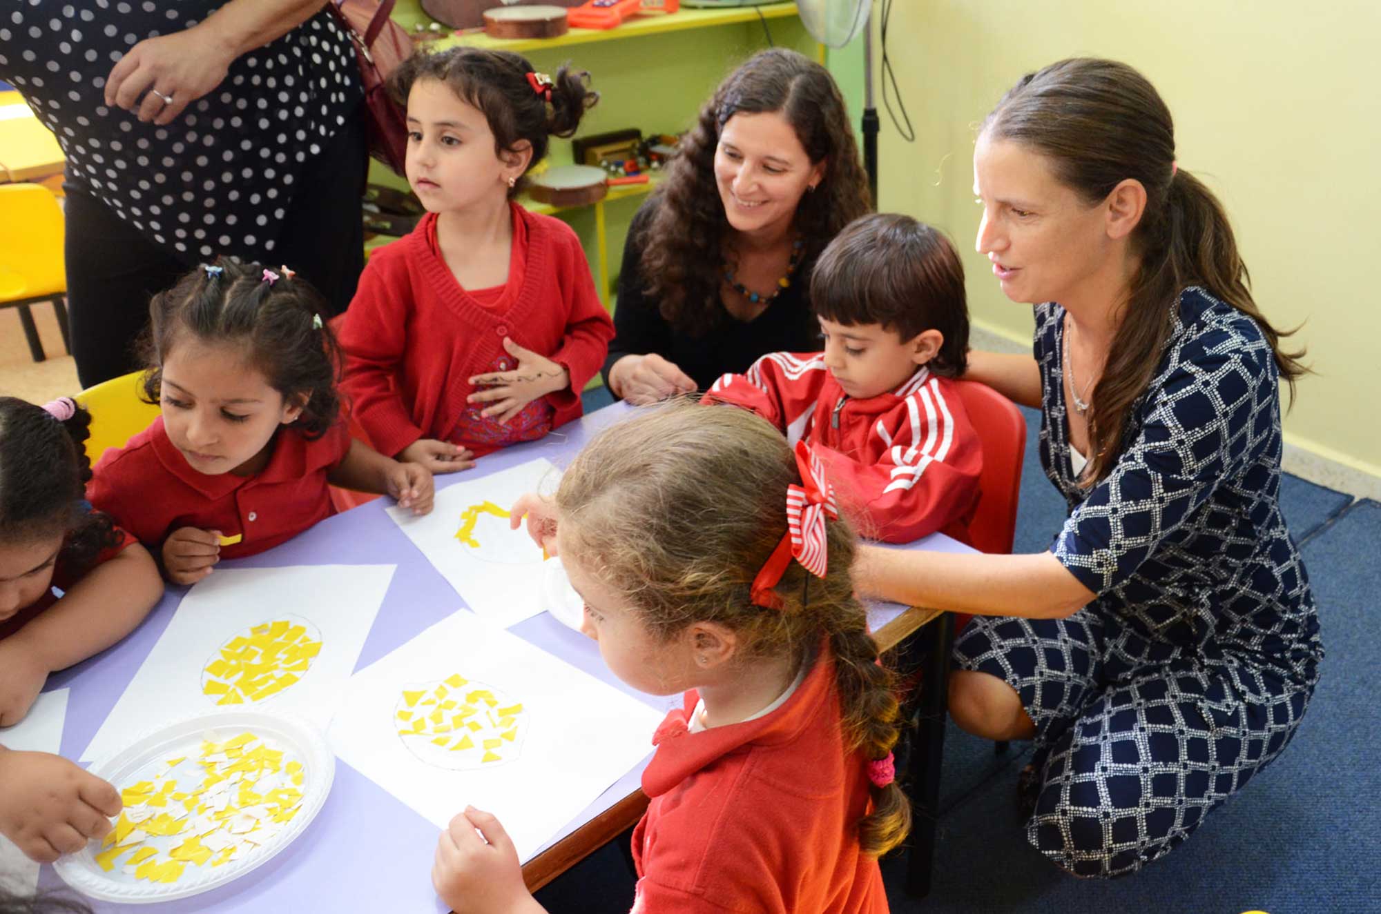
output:
[[[744,410],[650,409],[595,438],[554,503],[512,508],[561,555],[609,668],[685,692],[642,775],[632,911],[881,914],[877,857],[910,805],[853,533],[805,443]],[[442,833],[432,882],[461,914],[541,910],[474,808]]]

